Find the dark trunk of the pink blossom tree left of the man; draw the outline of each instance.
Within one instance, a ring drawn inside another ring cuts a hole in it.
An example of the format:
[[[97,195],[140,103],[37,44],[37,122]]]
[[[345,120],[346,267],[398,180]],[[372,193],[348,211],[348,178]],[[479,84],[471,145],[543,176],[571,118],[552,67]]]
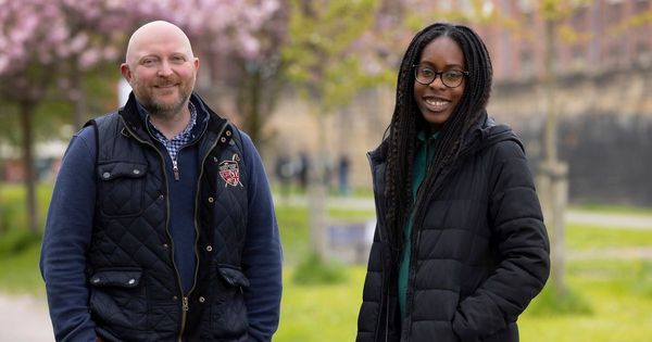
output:
[[[36,175],[34,172],[34,144],[32,137],[32,121],[35,104],[23,101],[20,104],[21,131],[23,138],[23,164],[25,166],[25,189],[27,190],[27,228],[37,233],[39,225],[39,213],[36,199]]]

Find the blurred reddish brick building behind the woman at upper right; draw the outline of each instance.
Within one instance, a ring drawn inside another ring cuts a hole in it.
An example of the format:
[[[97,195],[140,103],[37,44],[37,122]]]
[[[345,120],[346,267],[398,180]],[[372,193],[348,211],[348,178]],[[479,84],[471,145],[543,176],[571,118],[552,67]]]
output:
[[[439,1],[441,11],[471,12],[472,0]],[[538,0],[485,0],[474,25],[493,59],[496,81],[531,80],[543,74],[544,17]],[[652,64],[651,0],[560,1],[555,71],[559,75]]]

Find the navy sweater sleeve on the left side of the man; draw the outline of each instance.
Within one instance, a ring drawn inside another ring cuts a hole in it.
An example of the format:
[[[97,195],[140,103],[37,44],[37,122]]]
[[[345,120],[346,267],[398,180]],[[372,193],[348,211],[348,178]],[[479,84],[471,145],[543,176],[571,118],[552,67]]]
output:
[[[96,203],[95,131],[75,135],[48,210],[40,269],[57,341],[96,341],[84,269]]]

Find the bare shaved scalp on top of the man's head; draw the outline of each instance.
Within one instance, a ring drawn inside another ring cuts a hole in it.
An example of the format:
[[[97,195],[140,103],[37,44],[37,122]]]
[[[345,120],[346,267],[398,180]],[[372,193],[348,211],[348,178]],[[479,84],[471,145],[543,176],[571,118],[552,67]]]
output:
[[[180,48],[184,50],[183,52],[190,58],[195,56],[190,39],[178,26],[165,21],[155,21],[147,23],[134,31],[127,45],[125,62],[133,66],[142,56],[143,46],[158,41],[164,42],[170,39],[178,40]]]

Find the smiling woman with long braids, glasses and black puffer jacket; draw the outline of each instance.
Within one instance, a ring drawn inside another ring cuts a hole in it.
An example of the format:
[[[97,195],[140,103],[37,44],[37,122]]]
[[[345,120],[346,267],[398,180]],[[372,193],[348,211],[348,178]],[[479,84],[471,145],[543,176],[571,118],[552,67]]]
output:
[[[518,341],[549,241],[524,148],[490,118],[478,35],[437,23],[401,63],[393,116],[369,153],[378,224],[358,341]]]

